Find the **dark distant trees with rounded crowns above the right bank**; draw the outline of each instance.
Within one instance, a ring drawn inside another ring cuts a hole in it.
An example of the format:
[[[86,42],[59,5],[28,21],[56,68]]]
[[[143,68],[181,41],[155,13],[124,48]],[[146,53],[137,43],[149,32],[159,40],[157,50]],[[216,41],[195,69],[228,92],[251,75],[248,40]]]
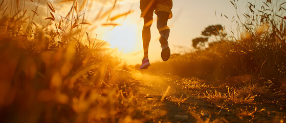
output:
[[[208,39],[210,36],[214,35],[220,37],[225,37],[226,34],[224,33],[224,28],[222,25],[210,25],[202,31],[203,37],[196,37],[192,39],[192,46],[196,49],[200,49],[205,47],[205,44],[208,43]],[[222,39],[222,38],[221,38]]]

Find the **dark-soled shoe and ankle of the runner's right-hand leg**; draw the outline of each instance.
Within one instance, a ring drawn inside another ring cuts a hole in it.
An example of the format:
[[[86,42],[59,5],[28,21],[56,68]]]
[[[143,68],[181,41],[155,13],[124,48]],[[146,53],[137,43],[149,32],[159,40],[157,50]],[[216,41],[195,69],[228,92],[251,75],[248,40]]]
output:
[[[162,48],[161,58],[162,60],[167,61],[171,55],[171,51],[168,45],[168,40],[165,36],[161,36],[159,41],[161,43],[161,48]]]

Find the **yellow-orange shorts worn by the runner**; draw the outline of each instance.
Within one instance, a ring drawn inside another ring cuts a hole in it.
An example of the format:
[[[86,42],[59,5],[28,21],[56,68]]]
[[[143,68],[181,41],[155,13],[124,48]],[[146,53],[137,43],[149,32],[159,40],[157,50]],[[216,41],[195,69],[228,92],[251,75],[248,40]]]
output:
[[[155,14],[159,11],[168,12],[169,19],[172,18],[172,9],[173,1],[172,0],[140,0],[140,9],[141,9],[141,17],[147,16],[152,17],[153,11],[155,10]]]

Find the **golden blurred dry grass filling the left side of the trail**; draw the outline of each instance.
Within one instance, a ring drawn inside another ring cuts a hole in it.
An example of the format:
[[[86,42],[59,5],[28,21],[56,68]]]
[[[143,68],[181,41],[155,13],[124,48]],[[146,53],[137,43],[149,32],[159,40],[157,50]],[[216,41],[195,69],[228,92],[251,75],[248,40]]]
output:
[[[23,2],[0,2],[1,122],[146,122],[164,114],[133,93],[126,65],[85,31],[88,1],[72,1],[64,16],[52,3]]]

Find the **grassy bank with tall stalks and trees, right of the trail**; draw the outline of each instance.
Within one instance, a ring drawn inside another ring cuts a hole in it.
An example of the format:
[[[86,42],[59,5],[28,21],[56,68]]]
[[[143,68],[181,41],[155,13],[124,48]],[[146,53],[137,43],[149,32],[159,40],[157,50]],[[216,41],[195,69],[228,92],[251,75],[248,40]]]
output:
[[[226,32],[221,25],[206,27],[202,37],[192,39],[195,50],[152,64],[153,73],[205,80],[204,84],[185,87],[199,88],[199,97],[211,102],[262,103],[284,109],[286,4],[263,1],[258,6],[249,2],[248,11],[240,14],[238,1],[230,2],[237,14],[221,16],[231,19],[237,30]]]

